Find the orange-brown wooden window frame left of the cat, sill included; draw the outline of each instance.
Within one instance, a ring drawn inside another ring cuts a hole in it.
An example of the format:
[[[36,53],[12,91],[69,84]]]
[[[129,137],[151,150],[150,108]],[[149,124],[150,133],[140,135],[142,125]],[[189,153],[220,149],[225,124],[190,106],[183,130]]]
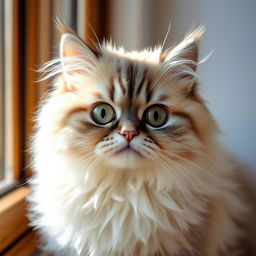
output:
[[[12,110],[10,119],[13,127],[10,164],[17,185],[18,182],[32,175],[32,170],[26,167],[30,159],[28,154],[25,154],[25,149],[33,134],[36,103],[48,89],[47,82],[35,84],[38,78],[35,70],[52,57],[51,47],[53,41],[56,42],[56,36],[49,35],[54,29],[51,24],[54,18],[52,11],[54,4],[52,0],[4,1],[11,6],[9,16],[12,19],[11,44],[9,45],[12,48],[12,56],[7,67],[11,70],[11,75],[6,81],[12,88],[9,94]],[[83,6],[85,15],[81,10],[79,17],[77,15],[77,23],[78,21],[83,23],[83,26],[81,24],[77,26],[80,35],[85,41],[88,38],[96,41],[94,34],[96,33],[97,37],[102,40],[103,33],[106,35],[107,31],[107,24],[102,23],[104,14],[102,8],[108,11],[109,4],[104,2],[103,6],[100,6],[100,0],[86,1],[86,3],[81,3],[81,1],[84,0],[77,0],[77,6]],[[95,16],[98,19],[95,19]],[[26,41],[24,35],[26,35]],[[91,41],[87,42],[91,43]],[[48,55],[45,54],[46,52]],[[21,186],[0,197],[0,255],[31,255],[39,244],[39,239],[29,227],[26,217],[26,197],[30,193],[31,190],[27,186]]]

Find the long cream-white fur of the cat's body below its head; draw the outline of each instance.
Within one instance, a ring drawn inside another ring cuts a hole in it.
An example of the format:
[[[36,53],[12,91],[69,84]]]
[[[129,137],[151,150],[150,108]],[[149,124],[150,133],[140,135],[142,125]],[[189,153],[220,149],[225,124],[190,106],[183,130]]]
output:
[[[217,200],[213,207],[222,215],[214,218],[224,222],[221,232],[217,230],[217,236],[212,234],[214,241],[220,240],[214,252],[226,248],[238,234],[229,216],[239,216],[241,205],[233,196],[232,174],[225,163],[210,168],[205,158],[199,157],[200,168],[204,170],[198,170],[193,163],[184,163],[188,177],[180,176],[178,167],[152,166],[143,170],[138,166],[133,171],[120,171],[100,163],[90,170],[85,167],[86,160],[77,163],[72,155],[52,151],[51,139],[47,140],[42,133],[36,138],[38,172],[30,197],[35,213],[32,223],[49,240],[56,241],[57,247],[72,248],[77,255],[90,256],[148,256],[162,250],[161,255],[167,255],[166,252],[176,254],[181,248],[190,250],[187,232],[203,223],[202,216],[208,204],[214,204],[213,200]],[[194,177],[190,177],[191,173]]]

